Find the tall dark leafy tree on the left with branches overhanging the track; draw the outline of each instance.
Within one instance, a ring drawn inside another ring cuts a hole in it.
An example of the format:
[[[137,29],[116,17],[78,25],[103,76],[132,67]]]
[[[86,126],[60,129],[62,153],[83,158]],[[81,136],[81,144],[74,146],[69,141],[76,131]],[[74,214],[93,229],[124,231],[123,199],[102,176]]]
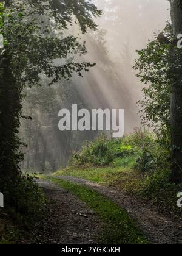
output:
[[[88,71],[93,65],[75,59],[75,52],[86,52],[84,43],[64,31],[76,20],[83,33],[87,28],[95,30],[92,18],[101,12],[87,0],[4,2],[0,2],[0,33],[4,36],[4,49],[0,49],[0,189],[7,204],[11,204],[23,158],[18,138],[22,90],[41,85],[42,74],[51,85],[69,79],[73,72],[82,76],[82,71]],[[47,26],[51,21],[56,36]],[[65,62],[56,65],[56,59]]]

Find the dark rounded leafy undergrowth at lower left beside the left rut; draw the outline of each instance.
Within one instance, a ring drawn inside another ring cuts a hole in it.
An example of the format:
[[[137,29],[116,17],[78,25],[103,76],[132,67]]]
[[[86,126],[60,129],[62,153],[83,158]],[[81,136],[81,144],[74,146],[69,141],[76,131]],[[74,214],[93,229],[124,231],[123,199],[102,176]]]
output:
[[[19,177],[4,191],[4,208],[0,208],[0,244],[18,243],[22,230],[29,232],[42,218],[44,205],[44,194],[33,177]]]

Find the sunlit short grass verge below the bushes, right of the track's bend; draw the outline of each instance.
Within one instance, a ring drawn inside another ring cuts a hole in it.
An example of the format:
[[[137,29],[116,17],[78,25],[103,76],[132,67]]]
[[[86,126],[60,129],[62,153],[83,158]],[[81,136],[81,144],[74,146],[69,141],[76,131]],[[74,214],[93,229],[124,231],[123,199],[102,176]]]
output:
[[[132,168],[133,163],[135,163],[135,157],[129,156],[115,159],[109,166],[69,166],[53,175],[79,177],[135,193],[140,189],[144,176]]]

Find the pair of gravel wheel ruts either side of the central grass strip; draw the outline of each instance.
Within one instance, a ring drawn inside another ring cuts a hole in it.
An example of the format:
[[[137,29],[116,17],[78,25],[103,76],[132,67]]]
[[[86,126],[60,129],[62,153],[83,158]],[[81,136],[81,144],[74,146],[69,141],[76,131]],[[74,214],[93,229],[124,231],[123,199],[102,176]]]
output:
[[[115,201],[135,220],[152,244],[182,244],[182,223],[173,222],[134,196],[122,191],[70,176],[56,176],[86,185]],[[92,244],[99,243],[103,223],[84,202],[70,192],[46,180],[38,180],[49,202],[45,218],[21,243]],[[31,237],[31,239],[30,239]]]

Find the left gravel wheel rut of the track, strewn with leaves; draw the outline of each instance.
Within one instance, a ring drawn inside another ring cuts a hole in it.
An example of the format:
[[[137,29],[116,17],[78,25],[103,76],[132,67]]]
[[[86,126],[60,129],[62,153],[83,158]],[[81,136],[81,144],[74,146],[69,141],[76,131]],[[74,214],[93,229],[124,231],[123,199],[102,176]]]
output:
[[[33,243],[98,243],[97,237],[103,230],[103,224],[84,202],[47,180],[39,179],[37,183],[44,191],[48,204],[45,218],[39,224],[41,229],[32,231]]]

